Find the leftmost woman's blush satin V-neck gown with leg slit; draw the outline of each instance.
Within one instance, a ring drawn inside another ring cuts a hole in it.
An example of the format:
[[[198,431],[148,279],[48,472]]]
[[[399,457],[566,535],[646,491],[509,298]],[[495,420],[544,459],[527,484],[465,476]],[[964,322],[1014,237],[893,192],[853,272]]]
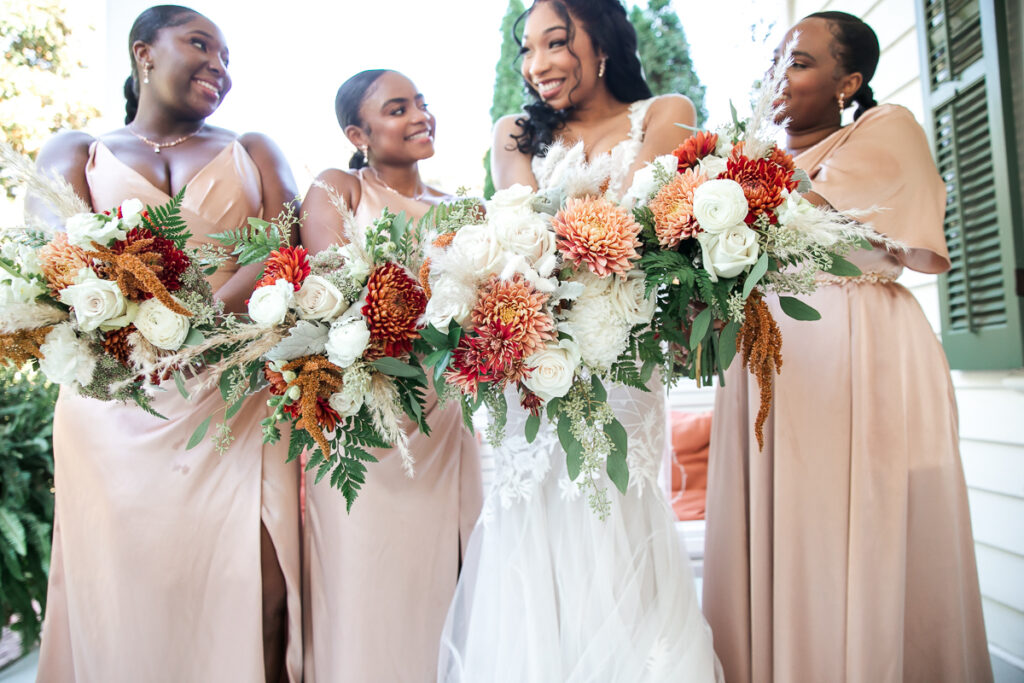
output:
[[[129,198],[154,206],[170,199],[99,141],[89,150],[86,178],[95,211]],[[195,242],[211,242],[210,233],[261,211],[259,171],[238,141],[199,171],[182,202]],[[211,276],[214,290],[232,270],[227,265]],[[298,468],[285,463],[287,442],[262,443],[266,395],[250,397],[233,418],[234,441],[221,456],[209,439],[184,447],[222,407],[219,390],[190,387],[189,401],[172,383],[164,388],[153,407],[167,420],[134,404],[60,392],[38,680],[261,682],[264,618],[286,610],[287,654],[267,654],[284,656],[281,680],[298,683]],[[269,551],[263,566],[261,545]],[[264,571],[283,574],[284,604],[269,600],[274,604],[264,608]],[[280,635],[280,644],[266,647],[285,650]]]

